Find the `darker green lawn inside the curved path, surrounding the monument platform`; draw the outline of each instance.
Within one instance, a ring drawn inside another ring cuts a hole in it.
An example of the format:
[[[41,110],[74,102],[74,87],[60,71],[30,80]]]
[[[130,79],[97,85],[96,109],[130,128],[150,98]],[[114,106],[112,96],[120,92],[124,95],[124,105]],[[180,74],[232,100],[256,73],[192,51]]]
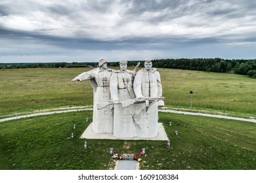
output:
[[[2,122],[0,169],[114,169],[110,147],[137,155],[146,148],[140,169],[256,169],[256,124],[250,122],[160,112],[167,147],[164,141],[79,139],[92,116],[70,112]]]

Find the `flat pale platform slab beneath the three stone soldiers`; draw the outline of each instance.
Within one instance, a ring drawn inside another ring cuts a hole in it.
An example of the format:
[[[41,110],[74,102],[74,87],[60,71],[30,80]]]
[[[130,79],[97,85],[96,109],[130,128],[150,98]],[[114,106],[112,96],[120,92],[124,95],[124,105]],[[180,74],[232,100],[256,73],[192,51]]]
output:
[[[112,139],[112,140],[147,140],[147,141],[167,141],[167,133],[163,127],[163,124],[158,123],[158,135],[154,138],[117,138],[113,133],[95,133],[93,131],[93,124],[91,123],[87,129],[83,132],[80,139]]]

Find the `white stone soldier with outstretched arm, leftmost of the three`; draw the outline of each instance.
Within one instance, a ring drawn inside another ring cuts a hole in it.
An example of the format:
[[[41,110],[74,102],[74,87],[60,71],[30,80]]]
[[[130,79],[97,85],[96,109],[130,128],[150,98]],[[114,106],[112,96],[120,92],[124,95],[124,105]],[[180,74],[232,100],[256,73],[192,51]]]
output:
[[[98,68],[76,76],[72,82],[89,80],[93,87],[93,131],[95,133],[113,133],[113,105],[102,109],[98,103],[110,101],[110,76],[113,70],[108,69],[107,61],[100,59]]]

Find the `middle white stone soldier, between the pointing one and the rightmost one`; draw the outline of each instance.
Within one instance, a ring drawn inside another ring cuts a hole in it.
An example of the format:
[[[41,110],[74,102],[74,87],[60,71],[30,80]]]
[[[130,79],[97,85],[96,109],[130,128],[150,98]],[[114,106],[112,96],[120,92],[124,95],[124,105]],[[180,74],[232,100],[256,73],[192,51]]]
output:
[[[121,102],[135,99],[133,80],[136,71],[127,70],[127,61],[119,61],[120,71],[110,78],[110,95],[114,105],[114,136],[118,138],[136,137],[133,121],[134,105],[123,108]]]

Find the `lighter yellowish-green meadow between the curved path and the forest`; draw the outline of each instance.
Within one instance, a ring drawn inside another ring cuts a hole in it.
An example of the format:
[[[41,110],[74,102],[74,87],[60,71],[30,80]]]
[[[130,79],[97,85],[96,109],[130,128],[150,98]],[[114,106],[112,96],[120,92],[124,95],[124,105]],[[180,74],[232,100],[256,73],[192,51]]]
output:
[[[1,70],[0,118],[51,108],[91,107],[93,90],[89,81],[70,82],[89,69]],[[228,73],[158,71],[167,107],[189,110],[189,92],[193,90],[193,111],[256,118],[256,80]]]

